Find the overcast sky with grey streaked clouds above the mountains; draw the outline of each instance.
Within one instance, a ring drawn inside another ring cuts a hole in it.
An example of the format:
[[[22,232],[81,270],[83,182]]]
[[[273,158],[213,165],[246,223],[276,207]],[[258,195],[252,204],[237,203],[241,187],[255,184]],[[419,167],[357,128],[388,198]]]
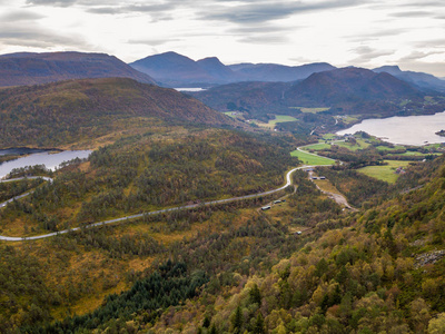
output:
[[[0,0],[0,53],[166,51],[445,77],[444,0]]]

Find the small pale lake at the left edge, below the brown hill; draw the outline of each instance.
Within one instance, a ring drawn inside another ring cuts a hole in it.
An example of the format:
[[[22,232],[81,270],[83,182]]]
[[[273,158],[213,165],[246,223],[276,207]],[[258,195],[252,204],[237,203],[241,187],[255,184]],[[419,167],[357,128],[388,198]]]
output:
[[[32,154],[16,160],[6,161],[0,165],[0,178],[7,176],[13,168],[26,166],[44,165],[48,169],[55,170],[63,161],[69,161],[76,158],[88,158],[92,150],[65,150],[57,154],[38,153]]]

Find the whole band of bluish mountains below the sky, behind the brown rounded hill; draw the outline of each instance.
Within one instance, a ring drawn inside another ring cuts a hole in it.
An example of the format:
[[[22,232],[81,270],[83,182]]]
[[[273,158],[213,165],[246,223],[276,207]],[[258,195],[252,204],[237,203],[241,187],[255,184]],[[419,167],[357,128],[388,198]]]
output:
[[[226,66],[216,57],[195,61],[176,52],[149,56],[130,65],[105,53],[0,56],[0,87],[110,77],[167,87],[210,87],[190,95],[216,110],[240,110],[250,117],[294,115],[300,107],[368,116],[433,114],[442,111],[443,104],[425,105],[424,97],[445,92],[445,81],[427,73],[402,71],[397,66],[374,70],[335,68],[324,62],[296,67],[248,62]],[[148,90],[141,89],[144,94]],[[130,99],[131,110],[146,106],[147,99],[139,97]]]

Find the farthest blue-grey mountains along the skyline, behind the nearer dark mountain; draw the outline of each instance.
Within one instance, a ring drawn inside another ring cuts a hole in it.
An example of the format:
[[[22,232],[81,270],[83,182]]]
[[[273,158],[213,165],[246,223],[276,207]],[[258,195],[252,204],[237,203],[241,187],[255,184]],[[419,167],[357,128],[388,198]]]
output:
[[[313,73],[335,69],[326,62],[303,66],[244,62],[226,66],[216,57],[195,61],[171,51],[129,65],[105,53],[19,52],[0,56],[0,87],[110,77],[166,87],[211,87],[246,81],[296,82]],[[426,92],[445,91],[445,81],[428,73],[402,71],[397,66],[384,66],[373,71],[387,72]]]

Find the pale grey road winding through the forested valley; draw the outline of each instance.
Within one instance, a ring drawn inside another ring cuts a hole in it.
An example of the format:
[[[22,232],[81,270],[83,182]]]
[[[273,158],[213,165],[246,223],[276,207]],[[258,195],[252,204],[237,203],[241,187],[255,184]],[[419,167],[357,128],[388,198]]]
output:
[[[300,147],[298,147],[298,150],[299,149],[300,149]],[[313,155],[315,155],[315,154],[313,154]],[[142,218],[145,216],[152,216],[152,215],[170,213],[170,212],[177,212],[177,210],[182,210],[182,209],[191,209],[191,208],[196,208],[196,207],[200,207],[200,206],[224,204],[224,203],[229,203],[229,202],[235,202],[235,200],[243,200],[243,199],[249,199],[249,198],[260,197],[260,196],[265,196],[265,195],[270,195],[270,194],[284,190],[286,187],[290,186],[291,185],[290,176],[295,170],[304,169],[304,168],[310,168],[310,167],[317,167],[317,166],[330,166],[330,165],[300,166],[300,167],[293,168],[286,174],[286,184],[284,186],[281,186],[281,187],[279,187],[277,189],[268,190],[268,191],[263,191],[263,193],[253,194],[253,195],[246,195],[246,196],[240,196],[240,197],[231,197],[231,198],[226,198],[226,199],[210,200],[210,202],[205,202],[205,203],[199,203],[199,204],[190,204],[190,205],[177,206],[177,207],[171,207],[171,208],[166,208],[166,209],[160,209],[160,210],[155,210],[155,212],[146,212],[146,213],[137,214],[137,215],[131,215],[131,216],[126,216],[126,217],[121,217],[121,218],[115,218],[115,219],[92,223],[92,224],[89,224],[89,225],[86,225],[86,226],[82,226],[82,227],[73,227],[73,228],[68,228],[68,229],[58,230],[58,232],[53,232],[53,233],[37,235],[37,236],[10,237],[10,236],[0,235],[0,240],[3,240],[3,242],[23,242],[23,240],[43,239],[43,238],[49,238],[49,237],[52,237],[52,236],[66,234],[66,233],[69,233],[69,232],[79,230],[81,228],[90,228],[90,227],[96,227],[96,226],[103,226],[103,225],[108,225],[108,224],[115,224],[115,223],[119,223],[119,222],[126,222],[126,220]],[[42,179],[44,179],[47,181],[52,181],[52,179],[49,178],[49,177],[28,177],[28,179],[36,179],[36,178],[42,178]],[[19,179],[22,179],[22,178],[0,180],[0,183],[1,181],[13,181],[13,180],[19,180]],[[13,200],[20,199],[20,198],[22,198],[24,196],[28,196],[30,194],[32,194],[32,191],[28,191],[28,193],[22,194],[20,196],[16,196],[16,197],[7,200],[7,202],[0,203],[0,208],[7,206],[8,203],[11,203]]]

